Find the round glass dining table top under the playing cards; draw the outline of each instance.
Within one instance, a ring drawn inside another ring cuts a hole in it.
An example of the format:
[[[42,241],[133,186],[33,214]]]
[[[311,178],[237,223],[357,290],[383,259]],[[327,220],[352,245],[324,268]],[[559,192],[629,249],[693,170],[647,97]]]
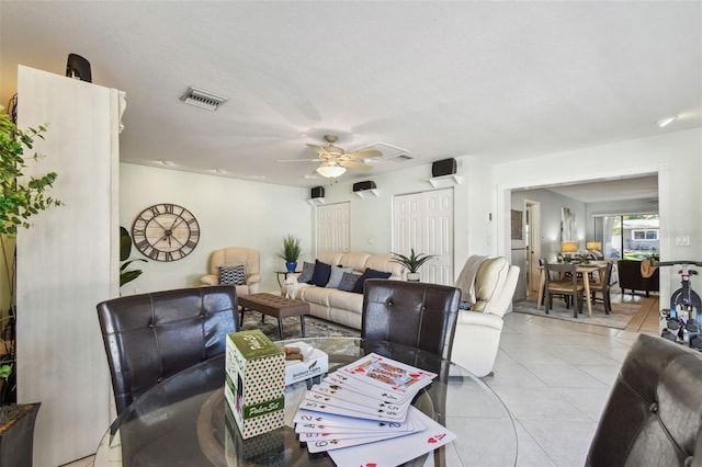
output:
[[[329,355],[329,373],[375,352],[439,376],[415,407],[456,434],[456,440],[406,466],[509,466],[517,462],[514,422],[497,395],[461,366],[431,353],[359,338],[307,338]],[[290,341],[293,342],[293,341]],[[284,345],[286,341],[279,342]],[[145,392],[104,434],[97,467],[333,466],[326,453],[308,454],[293,418],[310,380],[285,388],[285,425],[242,440],[225,417],[224,363],[219,355]]]

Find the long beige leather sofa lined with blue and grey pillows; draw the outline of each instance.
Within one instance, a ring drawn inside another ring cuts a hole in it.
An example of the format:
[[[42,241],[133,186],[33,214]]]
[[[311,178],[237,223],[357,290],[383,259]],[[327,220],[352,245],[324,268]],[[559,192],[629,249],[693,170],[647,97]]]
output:
[[[390,273],[393,280],[404,280],[404,269],[392,261],[389,254],[330,251],[319,254],[317,260],[331,266],[352,267],[354,274],[362,274],[366,267]],[[281,287],[283,296],[290,296],[309,304],[309,315],[354,329],[361,329],[363,294],[343,292],[337,288],[297,284],[298,274],[291,274]]]

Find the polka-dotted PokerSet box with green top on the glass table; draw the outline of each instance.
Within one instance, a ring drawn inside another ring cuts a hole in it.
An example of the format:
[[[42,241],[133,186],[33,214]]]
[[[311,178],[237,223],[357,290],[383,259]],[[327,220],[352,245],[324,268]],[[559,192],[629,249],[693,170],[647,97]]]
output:
[[[247,440],[283,425],[285,355],[259,330],[227,335],[224,395]]]

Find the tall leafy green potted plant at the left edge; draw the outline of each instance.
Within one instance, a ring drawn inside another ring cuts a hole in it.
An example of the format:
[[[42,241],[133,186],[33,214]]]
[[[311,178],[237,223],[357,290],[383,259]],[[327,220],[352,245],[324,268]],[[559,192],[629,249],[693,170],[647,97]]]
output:
[[[37,129],[18,128],[13,119],[0,106],[0,248],[2,250],[2,274],[8,281],[8,296],[2,297],[0,311],[0,465],[31,466],[34,441],[34,421],[39,403],[18,405],[14,372],[15,361],[15,271],[16,249],[14,238],[18,229],[30,228],[29,218],[60,201],[47,192],[58,178],[49,172],[41,178],[25,176],[27,161],[37,161],[38,153],[25,156],[32,150],[35,138],[44,138],[46,126]],[[7,304],[7,308],[4,308]]]

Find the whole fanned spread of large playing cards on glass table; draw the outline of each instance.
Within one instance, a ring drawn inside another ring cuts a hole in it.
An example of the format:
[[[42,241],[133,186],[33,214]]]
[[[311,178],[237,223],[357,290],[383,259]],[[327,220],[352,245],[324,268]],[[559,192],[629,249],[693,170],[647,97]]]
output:
[[[397,466],[455,435],[415,408],[437,374],[369,354],[307,391],[295,432],[310,453],[328,452],[339,466]]]

